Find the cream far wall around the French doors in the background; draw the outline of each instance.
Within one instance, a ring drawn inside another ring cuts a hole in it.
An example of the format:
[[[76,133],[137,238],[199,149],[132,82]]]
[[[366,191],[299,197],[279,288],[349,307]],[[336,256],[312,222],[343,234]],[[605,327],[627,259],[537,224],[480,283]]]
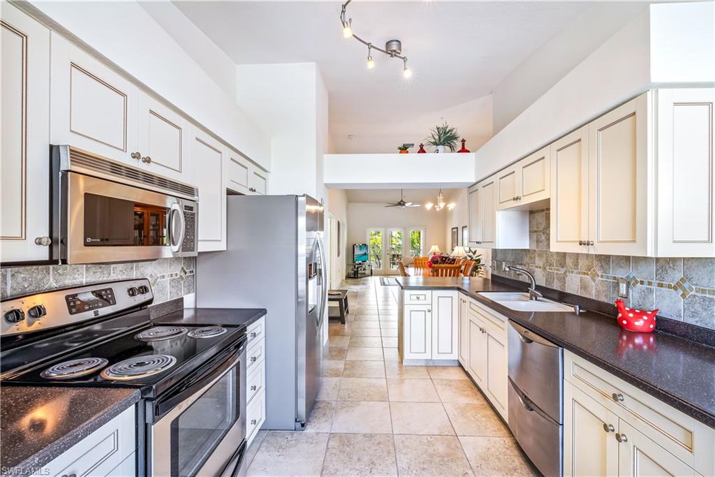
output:
[[[425,227],[425,253],[432,245],[445,250],[445,213],[425,210],[424,207],[400,209],[384,204],[349,202],[347,204],[346,263],[352,262],[352,244],[368,240],[368,228]],[[403,250],[408,254],[409,243],[405,240]],[[406,265],[406,264],[405,264]]]

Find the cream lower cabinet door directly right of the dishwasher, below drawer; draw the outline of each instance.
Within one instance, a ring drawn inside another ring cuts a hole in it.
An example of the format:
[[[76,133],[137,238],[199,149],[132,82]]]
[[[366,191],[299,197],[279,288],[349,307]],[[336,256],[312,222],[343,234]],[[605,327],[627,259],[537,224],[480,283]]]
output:
[[[563,475],[618,475],[618,416],[563,383]]]

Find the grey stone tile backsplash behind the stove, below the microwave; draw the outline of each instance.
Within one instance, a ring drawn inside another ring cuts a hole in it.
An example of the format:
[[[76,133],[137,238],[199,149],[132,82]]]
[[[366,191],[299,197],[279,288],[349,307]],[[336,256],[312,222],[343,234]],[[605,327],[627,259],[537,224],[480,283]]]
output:
[[[154,292],[154,303],[162,303],[193,293],[195,270],[194,257],[160,258],[149,262],[4,268],[0,270],[0,295],[6,298],[107,280],[148,278]]]

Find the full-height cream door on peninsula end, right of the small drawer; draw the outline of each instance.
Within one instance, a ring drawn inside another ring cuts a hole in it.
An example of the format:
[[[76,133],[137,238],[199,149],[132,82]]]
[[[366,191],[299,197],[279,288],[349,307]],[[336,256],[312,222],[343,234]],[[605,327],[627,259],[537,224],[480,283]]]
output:
[[[457,360],[459,292],[432,292],[432,359]]]

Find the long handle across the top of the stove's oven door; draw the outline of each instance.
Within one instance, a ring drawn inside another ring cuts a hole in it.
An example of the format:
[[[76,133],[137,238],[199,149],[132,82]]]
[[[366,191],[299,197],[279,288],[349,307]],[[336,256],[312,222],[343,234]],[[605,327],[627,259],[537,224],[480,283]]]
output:
[[[218,380],[230,368],[233,368],[240,360],[237,358],[245,352],[246,338],[224,350],[220,355],[211,360],[208,365],[195,370],[189,377],[183,380],[167,393],[162,394],[154,400],[152,405],[152,423],[157,423],[170,410],[179,403],[184,402],[198,390]]]

